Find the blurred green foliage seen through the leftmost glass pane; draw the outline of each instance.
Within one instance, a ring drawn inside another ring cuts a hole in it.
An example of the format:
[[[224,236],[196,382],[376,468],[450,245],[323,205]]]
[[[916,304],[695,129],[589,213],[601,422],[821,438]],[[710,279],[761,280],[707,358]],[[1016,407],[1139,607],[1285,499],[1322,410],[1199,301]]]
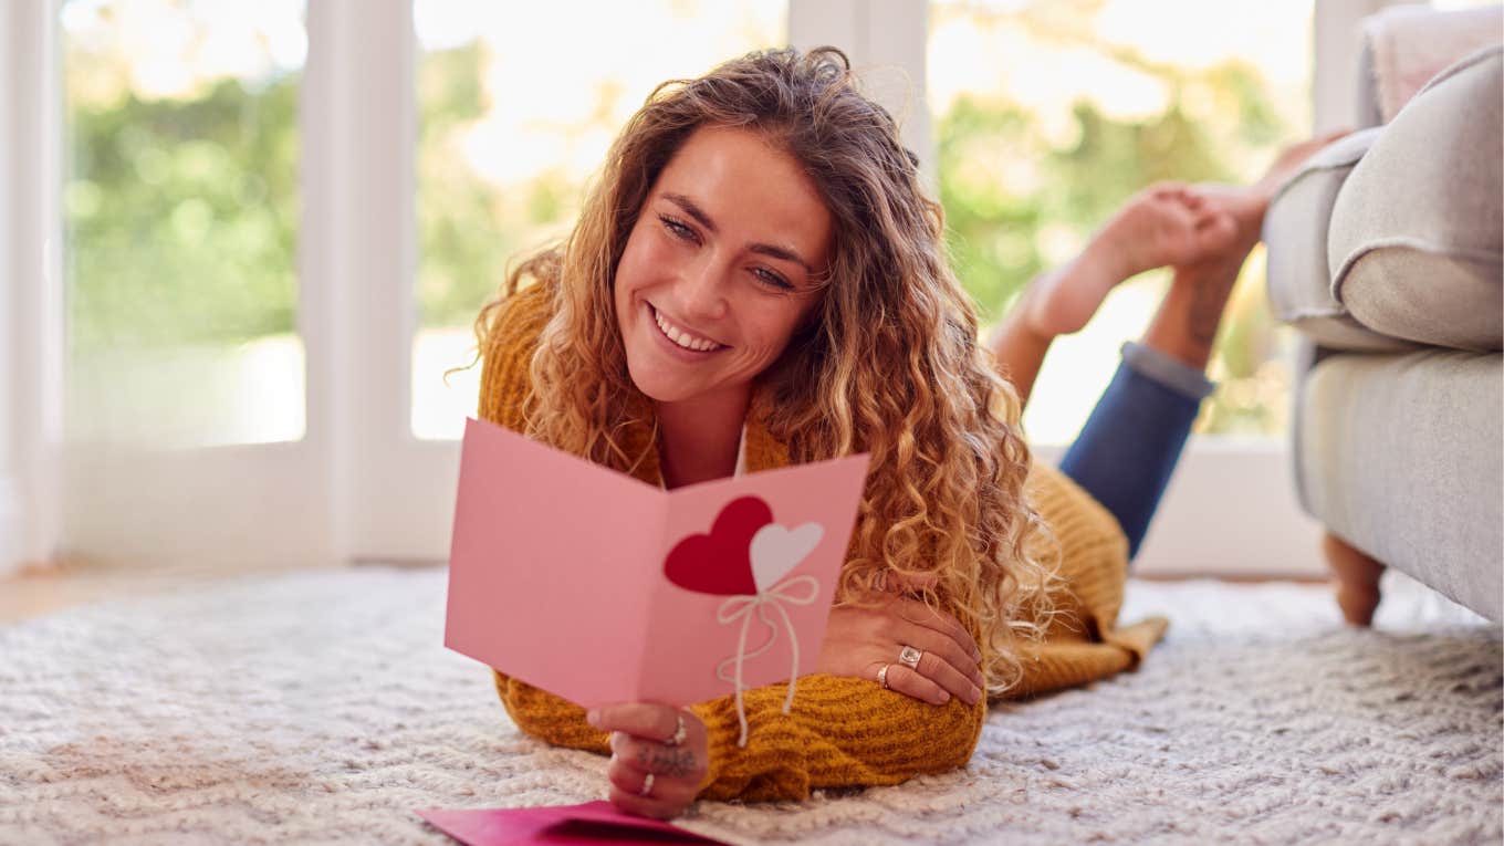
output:
[[[72,60],[72,68],[80,62]],[[186,101],[68,89],[75,345],[235,343],[296,315],[298,78]]]

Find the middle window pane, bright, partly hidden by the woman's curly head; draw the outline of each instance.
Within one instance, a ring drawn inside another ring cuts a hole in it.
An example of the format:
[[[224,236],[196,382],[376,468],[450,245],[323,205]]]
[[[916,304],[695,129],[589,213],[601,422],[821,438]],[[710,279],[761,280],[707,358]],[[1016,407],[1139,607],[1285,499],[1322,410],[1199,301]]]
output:
[[[444,372],[474,357],[471,321],[519,253],[567,233],[587,178],[627,117],[663,80],[782,45],[785,6],[417,0],[423,257],[421,328],[412,345],[415,435],[457,438],[465,431],[480,369],[447,381]],[[570,33],[564,42],[538,38],[562,32]]]

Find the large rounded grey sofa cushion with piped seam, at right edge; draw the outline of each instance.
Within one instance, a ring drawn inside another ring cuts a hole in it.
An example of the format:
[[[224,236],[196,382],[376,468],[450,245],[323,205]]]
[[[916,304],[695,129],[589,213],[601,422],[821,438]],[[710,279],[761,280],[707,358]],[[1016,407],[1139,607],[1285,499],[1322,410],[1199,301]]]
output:
[[[1363,325],[1456,349],[1504,348],[1504,48],[1423,89],[1331,208],[1331,297]]]

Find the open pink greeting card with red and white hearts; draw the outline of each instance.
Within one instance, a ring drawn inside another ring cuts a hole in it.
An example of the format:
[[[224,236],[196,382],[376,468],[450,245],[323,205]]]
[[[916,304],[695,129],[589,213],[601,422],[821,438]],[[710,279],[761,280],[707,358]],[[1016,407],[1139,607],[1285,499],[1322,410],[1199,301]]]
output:
[[[585,708],[812,673],[866,467],[663,491],[472,418],[444,644]]]

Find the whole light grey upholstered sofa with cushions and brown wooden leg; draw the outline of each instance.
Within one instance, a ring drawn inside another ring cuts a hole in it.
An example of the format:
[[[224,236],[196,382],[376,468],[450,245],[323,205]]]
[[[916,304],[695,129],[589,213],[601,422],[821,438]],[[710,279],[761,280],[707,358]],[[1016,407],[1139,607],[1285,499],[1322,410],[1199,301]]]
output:
[[[1466,54],[1318,154],[1265,218],[1269,298],[1305,349],[1298,494],[1354,623],[1384,566],[1504,616],[1501,69],[1498,45]]]

